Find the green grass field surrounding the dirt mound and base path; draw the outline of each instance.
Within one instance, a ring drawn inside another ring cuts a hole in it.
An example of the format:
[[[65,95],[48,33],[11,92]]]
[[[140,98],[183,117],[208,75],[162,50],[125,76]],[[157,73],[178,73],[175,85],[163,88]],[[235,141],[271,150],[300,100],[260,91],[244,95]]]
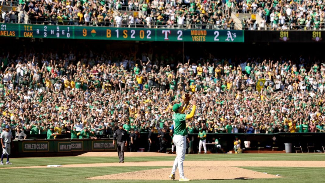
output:
[[[142,162],[142,161],[172,161],[174,157],[126,157],[126,162]],[[286,160],[286,161],[325,161],[325,153],[323,154],[190,154],[186,155],[185,161],[220,161],[220,160],[238,160],[238,161],[256,161],[256,160]],[[13,166],[39,166],[49,164],[78,164],[78,163],[113,163],[118,162],[117,157],[48,157],[48,158],[12,158],[10,162],[13,165],[1,165],[3,167]],[[138,170],[149,170],[157,168],[167,168],[166,166],[119,166],[119,167],[79,167],[79,168],[21,168],[21,169],[0,169],[1,175],[7,176],[10,182],[158,182],[145,180],[88,180],[86,177],[103,176],[109,174],[132,172]],[[171,168],[171,167],[169,167]],[[267,172],[268,174],[280,174],[283,178],[277,179],[253,179],[253,180],[200,180],[191,182],[324,182],[323,175],[325,168],[314,167],[241,167],[257,172]],[[198,172],[199,173],[199,172]],[[214,172],[217,173],[217,172]],[[10,178],[9,178],[10,177]],[[170,182],[162,181],[159,182]]]

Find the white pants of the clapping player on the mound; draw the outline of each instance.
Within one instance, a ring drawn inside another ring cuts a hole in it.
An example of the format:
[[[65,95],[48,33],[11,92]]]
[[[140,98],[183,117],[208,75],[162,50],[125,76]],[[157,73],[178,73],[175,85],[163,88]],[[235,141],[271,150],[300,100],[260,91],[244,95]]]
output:
[[[185,152],[186,152],[186,138],[185,136],[182,135],[174,135],[173,141],[176,146],[177,156],[174,161],[172,174],[175,174],[178,166],[179,177],[184,178],[183,163],[185,160]]]

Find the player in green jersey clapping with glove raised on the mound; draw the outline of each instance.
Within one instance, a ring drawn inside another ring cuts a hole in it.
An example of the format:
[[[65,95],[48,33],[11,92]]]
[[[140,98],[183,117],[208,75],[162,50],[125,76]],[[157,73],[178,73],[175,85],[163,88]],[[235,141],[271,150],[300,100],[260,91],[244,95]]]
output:
[[[186,138],[187,130],[186,130],[186,122],[185,120],[191,119],[194,117],[196,110],[196,98],[193,98],[192,104],[193,108],[190,114],[184,114],[186,108],[188,107],[190,96],[185,94],[183,97],[184,107],[182,107],[181,103],[174,104],[173,111],[175,112],[173,115],[173,124],[174,124],[174,137],[173,141],[176,146],[177,156],[174,161],[173,170],[170,174],[169,178],[175,179],[175,172],[178,167],[179,171],[179,181],[189,181],[188,178],[184,176],[183,163],[185,160],[185,152],[186,152]]]

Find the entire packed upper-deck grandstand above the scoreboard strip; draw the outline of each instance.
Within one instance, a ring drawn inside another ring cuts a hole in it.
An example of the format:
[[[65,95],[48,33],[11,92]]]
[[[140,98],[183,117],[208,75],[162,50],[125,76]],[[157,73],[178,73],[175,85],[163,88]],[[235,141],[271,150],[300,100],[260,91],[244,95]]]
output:
[[[2,13],[1,22],[52,25],[321,30],[325,16],[325,2],[321,0],[3,0],[0,3],[12,6]]]

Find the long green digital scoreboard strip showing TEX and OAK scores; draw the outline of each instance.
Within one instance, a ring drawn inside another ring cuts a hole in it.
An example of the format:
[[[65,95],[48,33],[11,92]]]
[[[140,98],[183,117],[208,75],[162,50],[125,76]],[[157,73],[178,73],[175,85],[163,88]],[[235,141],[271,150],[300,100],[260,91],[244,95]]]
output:
[[[147,29],[27,24],[0,24],[0,37],[165,42],[244,42],[244,32],[242,30]]]

